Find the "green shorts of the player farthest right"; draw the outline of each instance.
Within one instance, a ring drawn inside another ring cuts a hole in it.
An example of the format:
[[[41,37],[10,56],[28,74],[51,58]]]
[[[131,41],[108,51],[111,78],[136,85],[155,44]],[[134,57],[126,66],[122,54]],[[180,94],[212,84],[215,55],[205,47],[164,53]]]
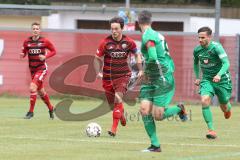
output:
[[[220,104],[227,104],[232,95],[231,79],[221,80],[218,83],[203,79],[200,83],[199,93],[201,96],[209,95],[213,97],[216,95]]]

